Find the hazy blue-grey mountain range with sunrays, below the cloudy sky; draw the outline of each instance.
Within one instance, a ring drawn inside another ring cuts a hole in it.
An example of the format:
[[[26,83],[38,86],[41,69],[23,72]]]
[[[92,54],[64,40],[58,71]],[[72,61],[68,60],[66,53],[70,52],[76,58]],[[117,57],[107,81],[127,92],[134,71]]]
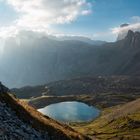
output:
[[[5,41],[0,77],[9,87],[21,87],[84,76],[139,76],[139,36],[129,31],[123,40],[97,46],[23,33]]]

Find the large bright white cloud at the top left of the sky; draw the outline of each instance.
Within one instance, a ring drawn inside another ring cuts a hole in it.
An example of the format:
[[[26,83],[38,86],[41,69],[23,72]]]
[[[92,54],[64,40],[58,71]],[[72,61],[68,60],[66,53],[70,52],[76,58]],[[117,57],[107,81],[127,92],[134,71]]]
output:
[[[19,14],[18,27],[47,29],[52,24],[70,23],[92,12],[87,0],[7,0]]]

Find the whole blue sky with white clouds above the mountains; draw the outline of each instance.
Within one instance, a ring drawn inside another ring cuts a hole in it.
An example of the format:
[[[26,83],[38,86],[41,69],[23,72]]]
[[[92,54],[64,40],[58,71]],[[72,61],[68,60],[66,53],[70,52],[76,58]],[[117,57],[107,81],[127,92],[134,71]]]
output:
[[[0,37],[31,30],[114,41],[129,29],[140,29],[140,0],[0,0]]]

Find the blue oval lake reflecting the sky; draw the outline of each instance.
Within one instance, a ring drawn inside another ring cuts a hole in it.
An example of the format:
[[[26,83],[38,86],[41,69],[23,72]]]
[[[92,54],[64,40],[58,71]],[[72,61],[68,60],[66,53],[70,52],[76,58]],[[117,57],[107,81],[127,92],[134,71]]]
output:
[[[100,114],[99,109],[75,101],[51,104],[38,111],[61,122],[87,122]]]

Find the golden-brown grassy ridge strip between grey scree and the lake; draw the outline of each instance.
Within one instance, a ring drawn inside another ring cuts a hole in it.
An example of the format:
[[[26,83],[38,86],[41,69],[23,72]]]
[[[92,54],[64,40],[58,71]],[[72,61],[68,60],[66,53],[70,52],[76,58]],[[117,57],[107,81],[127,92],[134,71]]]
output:
[[[0,100],[5,101],[22,120],[30,123],[39,131],[47,131],[52,140],[86,140],[87,137],[67,125],[43,116],[26,102],[16,99],[8,93],[0,93]]]

